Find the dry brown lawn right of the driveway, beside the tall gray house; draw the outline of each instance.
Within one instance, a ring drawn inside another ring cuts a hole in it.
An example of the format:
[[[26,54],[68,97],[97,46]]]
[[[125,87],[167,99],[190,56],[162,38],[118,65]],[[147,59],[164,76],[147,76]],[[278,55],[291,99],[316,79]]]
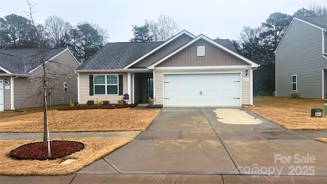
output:
[[[327,103],[319,99],[267,97],[254,98],[255,106],[244,106],[246,109],[277,123],[290,130],[326,130],[327,116],[310,117],[314,107],[323,109]]]

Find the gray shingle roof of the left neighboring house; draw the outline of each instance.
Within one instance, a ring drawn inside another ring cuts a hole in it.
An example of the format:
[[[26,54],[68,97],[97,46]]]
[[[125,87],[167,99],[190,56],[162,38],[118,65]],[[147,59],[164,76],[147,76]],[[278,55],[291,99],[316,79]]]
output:
[[[51,59],[66,48],[49,49],[45,52],[45,61]],[[28,74],[39,66],[40,49],[4,49],[0,50],[0,66],[13,74]]]

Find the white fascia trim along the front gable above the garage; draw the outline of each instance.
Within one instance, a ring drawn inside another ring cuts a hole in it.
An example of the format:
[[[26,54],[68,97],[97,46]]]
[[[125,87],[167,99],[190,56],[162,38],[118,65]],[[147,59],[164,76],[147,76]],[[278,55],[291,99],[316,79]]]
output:
[[[210,39],[210,38],[208,38],[208,37],[206,37],[206,36],[204,36],[204,35],[201,34],[201,35],[199,35],[198,37],[194,38],[193,40],[189,41],[188,43],[184,44],[182,47],[180,47],[179,49],[175,50],[174,52],[172,52],[172,53],[168,54],[167,56],[161,58],[161,59],[158,60],[157,62],[151,64],[151,65],[149,66],[149,69],[154,69],[154,67],[155,67],[156,65],[160,64],[161,62],[164,62],[166,59],[168,59],[168,58],[174,56],[174,55],[177,54],[178,52],[180,52],[180,51],[182,51],[183,49],[189,47],[191,44],[193,44],[194,42],[198,41],[199,39],[204,39],[205,41],[207,41],[207,42],[209,42],[209,43],[215,45],[216,47],[222,49],[223,51],[225,51],[225,52],[227,52],[227,53],[229,53],[229,54],[231,54],[231,55],[233,55],[233,56],[235,56],[235,57],[237,57],[237,58],[243,60],[244,62],[250,64],[251,67],[258,67],[258,64],[257,64],[257,63],[255,63],[255,62],[253,62],[253,61],[251,61],[251,60],[249,60],[249,59],[247,59],[247,58],[241,56],[241,55],[238,54],[238,53],[235,53],[234,51],[231,51],[230,49],[224,47],[223,45],[219,44],[218,42],[216,42],[216,41],[214,41],[214,40],[212,40],[212,39]]]

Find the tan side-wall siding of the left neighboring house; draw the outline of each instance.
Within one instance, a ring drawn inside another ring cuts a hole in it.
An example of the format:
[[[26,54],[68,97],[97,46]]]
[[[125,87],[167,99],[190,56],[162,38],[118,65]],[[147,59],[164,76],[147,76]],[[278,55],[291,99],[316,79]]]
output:
[[[75,74],[74,70],[79,66],[79,64],[69,53],[69,51],[61,53],[52,61],[46,63],[46,65],[48,65],[48,68],[51,68],[52,71],[60,74],[58,76],[54,76],[54,78],[60,78],[55,79],[54,83],[56,86],[52,86],[55,89],[52,90],[51,105],[69,104],[70,100],[77,102],[77,74]],[[48,75],[50,75],[50,73],[53,72],[49,72]],[[36,81],[34,83],[35,77],[42,75],[43,68],[38,67],[35,71],[31,72],[31,77],[18,77],[14,79],[15,108],[42,106],[43,95],[37,96],[36,98],[31,98],[37,93],[37,89],[43,85],[42,81]],[[34,83],[34,85],[27,84],[29,81],[30,83]],[[64,82],[66,82],[68,86],[67,92],[64,91]]]

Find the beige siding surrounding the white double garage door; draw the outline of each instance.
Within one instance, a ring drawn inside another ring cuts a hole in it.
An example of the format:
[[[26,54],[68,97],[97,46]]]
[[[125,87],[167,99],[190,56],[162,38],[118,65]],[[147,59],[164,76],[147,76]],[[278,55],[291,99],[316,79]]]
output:
[[[250,66],[248,68],[238,68],[238,69],[213,69],[213,70],[155,70],[154,72],[154,91],[155,91],[155,103],[163,104],[163,77],[164,74],[206,74],[206,73],[239,73],[241,77],[241,93],[242,93],[242,105],[251,104],[251,74],[245,77],[245,70],[250,71]],[[244,82],[244,78],[248,78],[249,82]],[[164,104],[165,105],[165,104]]]

